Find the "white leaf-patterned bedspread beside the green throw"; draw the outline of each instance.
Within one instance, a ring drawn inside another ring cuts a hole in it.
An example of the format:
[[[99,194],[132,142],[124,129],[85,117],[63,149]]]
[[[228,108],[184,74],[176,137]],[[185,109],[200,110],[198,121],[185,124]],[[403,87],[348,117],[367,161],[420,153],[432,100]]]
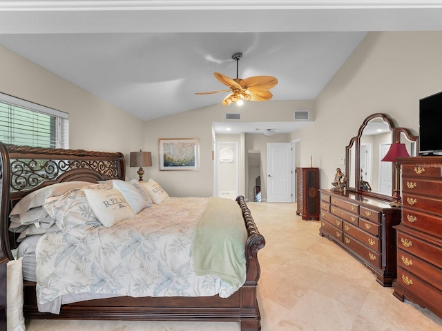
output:
[[[62,296],[77,293],[229,297],[238,286],[193,270],[193,231],[208,201],[168,198],[111,228],[45,234],[36,251],[39,311],[59,313]]]

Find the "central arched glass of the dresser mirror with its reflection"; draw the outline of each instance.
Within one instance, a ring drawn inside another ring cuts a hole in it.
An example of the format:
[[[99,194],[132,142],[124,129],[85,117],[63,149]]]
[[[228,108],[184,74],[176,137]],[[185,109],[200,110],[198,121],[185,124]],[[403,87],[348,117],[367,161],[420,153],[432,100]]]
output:
[[[392,142],[390,123],[382,117],[375,117],[367,123],[359,143],[359,190],[388,196],[392,194],[392,163],[381,162]]]

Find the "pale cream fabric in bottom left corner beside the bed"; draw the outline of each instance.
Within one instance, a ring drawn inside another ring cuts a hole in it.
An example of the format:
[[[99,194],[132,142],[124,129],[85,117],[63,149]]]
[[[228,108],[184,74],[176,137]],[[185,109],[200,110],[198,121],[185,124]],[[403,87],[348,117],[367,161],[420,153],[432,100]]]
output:
[[[6,265],[6,311],[8,331],[25,331],[23,317],[23,276],[21,260],[9,261]]]

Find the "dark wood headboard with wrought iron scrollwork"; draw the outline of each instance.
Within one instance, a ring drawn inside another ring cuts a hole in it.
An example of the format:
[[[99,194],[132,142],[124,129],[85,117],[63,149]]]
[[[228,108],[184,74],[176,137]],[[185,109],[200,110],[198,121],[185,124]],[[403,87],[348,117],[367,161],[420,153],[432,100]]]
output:
[[[0,141],[0,257],[12,259],[15,236],[8,231],[9,213],[21,198],[63,181],[123,179],[124,154],[6,145]]]

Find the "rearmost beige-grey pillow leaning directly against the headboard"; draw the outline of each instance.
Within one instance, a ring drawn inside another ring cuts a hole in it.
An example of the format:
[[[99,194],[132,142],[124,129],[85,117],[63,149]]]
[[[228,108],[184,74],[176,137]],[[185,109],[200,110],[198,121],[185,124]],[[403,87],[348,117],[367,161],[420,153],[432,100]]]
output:
[[[30,208],[35,208],[43,205],[44,201],[48,197],[56,197],[57,195],[64,194],[73,188],[81,188],[85,185],[90,185],[88,181],[64,181],[63,183],[55,183],[45,186],[34,192],[30,192],[23,197],[17,205],[12,208],[9,216],[21,214],[27,212]]]

